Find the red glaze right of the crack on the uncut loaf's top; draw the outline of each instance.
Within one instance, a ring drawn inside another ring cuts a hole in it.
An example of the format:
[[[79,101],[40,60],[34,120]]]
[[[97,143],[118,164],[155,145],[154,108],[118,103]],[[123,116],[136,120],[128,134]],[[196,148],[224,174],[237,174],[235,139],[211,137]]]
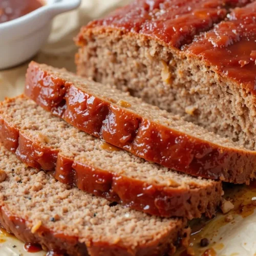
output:
[[[206,66],[256,94],[256,3],[230,13],[226,22],[198,38],[185,51]],[[242,85],[240,85],[242,84]]]

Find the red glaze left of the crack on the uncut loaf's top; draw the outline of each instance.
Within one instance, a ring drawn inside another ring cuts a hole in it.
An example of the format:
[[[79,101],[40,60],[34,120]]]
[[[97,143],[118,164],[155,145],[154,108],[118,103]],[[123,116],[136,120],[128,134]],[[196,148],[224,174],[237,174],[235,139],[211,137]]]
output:
[[[143,0],[120,8],[109,17],[91,22],[82,31],[103,26],[125,33],[139,33],[161,44],[180,48],[202,31],[223,20],[230,7],[243,6],[241,0]],[[83,44],[82,33],[78,45]]]

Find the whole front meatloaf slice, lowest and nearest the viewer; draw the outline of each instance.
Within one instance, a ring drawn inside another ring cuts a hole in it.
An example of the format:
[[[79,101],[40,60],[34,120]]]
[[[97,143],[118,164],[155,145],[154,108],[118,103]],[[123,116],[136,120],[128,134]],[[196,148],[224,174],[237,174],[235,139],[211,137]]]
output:
[[[0,145],[0,224],[23,242],[74,256],[172,254],[184,219],[112,205],[29,168]]]

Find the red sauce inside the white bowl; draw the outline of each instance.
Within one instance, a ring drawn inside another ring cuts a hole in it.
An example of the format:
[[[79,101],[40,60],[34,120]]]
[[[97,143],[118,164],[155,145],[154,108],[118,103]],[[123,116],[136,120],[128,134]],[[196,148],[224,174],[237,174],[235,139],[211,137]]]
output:
[[[0,0],[0,23],[22,17],[43,5],[40,0]]]

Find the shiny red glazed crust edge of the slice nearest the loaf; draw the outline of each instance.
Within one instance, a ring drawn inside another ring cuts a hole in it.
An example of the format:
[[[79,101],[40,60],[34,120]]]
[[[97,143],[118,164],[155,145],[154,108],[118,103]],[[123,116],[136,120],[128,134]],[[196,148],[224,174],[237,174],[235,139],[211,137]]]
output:
[[[170,129],[90,95],[35,62],[27,71],[25,93],[78,129],[145,160],[190,175],[233,183],[249,183],[255,177],[256,152],[224,147]],[[82,103],[78,97],[84,99]]]

